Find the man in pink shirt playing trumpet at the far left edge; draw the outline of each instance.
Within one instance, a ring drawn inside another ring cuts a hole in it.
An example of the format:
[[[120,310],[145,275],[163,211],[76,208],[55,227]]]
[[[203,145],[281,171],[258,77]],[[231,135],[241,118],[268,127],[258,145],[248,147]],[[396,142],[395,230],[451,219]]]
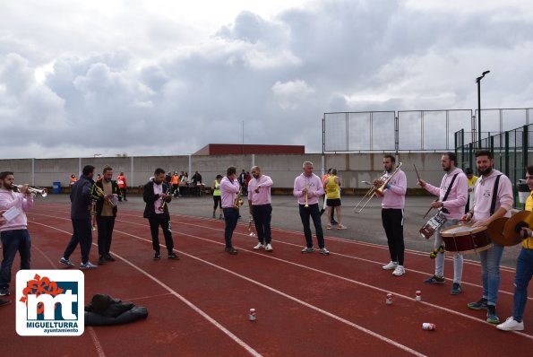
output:
[[[14,192],[16,187],[13,182],[13,172],[0,173],[0,210],[11,210],[11,219],[3,213],[6,222],[0,225],[4,256],[0,268],[0,296],[10,294],[11,269],[17,251],[21,255],[21,269],[30,269],[31,262],[31,239],[26,212],[33,208],[33,196],[27,185],[21,187],[21,192]]]

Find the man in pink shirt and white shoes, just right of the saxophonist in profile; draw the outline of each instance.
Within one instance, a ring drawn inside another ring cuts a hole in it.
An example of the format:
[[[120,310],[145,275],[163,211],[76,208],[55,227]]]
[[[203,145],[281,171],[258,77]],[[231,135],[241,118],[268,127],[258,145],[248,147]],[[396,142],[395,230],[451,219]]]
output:
[[[254,179],[248,183],[248,207],[250,208],[250,215],[254,217],[255,230],[259,240],[254,249],[264,248],[267,252],[271,252],[271,187],[273,183],[270,176],[262,175],[259,166],[254,166],[251,171]]]

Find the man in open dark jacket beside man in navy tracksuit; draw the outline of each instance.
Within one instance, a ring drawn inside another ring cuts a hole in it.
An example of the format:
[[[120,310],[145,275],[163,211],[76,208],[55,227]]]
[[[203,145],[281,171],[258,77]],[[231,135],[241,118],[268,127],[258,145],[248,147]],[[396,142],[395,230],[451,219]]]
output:
[[[92,196],[96,199],[96,222],[98,223],[99,265],[114,262],[111,257],[111,239],[115,228],[116,203],[118,202],[119,188],[113,180],[113,169],[106,166],[103,177],[93,186]]]

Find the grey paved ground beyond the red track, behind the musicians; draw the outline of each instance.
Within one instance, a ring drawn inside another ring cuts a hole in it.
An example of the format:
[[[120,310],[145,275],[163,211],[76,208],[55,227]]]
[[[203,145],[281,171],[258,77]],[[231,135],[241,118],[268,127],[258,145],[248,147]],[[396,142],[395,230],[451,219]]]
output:
[[[49,195],[44,199],[50,201],[68,201],[68,196]],[[245,200],[245,205],[241,208],[241,222],[248,222],[248,203],[245,196],[243,196],[243,199]],[[387,239],[383,231],[381,220],[381,201],[373,198],[368,205],[366,205],[365,210],[363,210],[362,213],[355,213],[353,207],[355,207],[360,200],[361,196],[342,197],[342,223],[348,226],[348,230],[326,230],[326,213],[324,213],[322,215],[322,228],[324,229],[324,234],[331,237],[354,239],[386,246]],[[406,208],[404,211],[404,239],[406,249],[427,253],[428,272],[433,271],[431,267],[434,266],[434,260],[429,258],[429,253],[434,248],[434,237],[431,239],[421,238],[418,230],[436,213],[436,211],[433,210],[431,213],[427,214],[426,219],[422,218],[432,201],[433,198],[431,196],[407,196]],[[119,203],[118,214],[120,214],[120,207],[122,206],[127,207],[128,209],[138,209],[140,211],[139,216],[142,217],[142,210],[144,209],[142,196],[128,196],[127,202]],[[169,204],[169,209],[170,213],[173,214],[211,218],[212,206],[213,200],[211,196],[187,196],[173,199]],[[272,226],[288,230],[302,231],[302,223],[298,214],[297,200],[295,197],[272,196],[272,206]],[[177,237],[179,237],[179,227],[173,227],[173,231],[175,231]],[[312,227],[312,231],[314,231],[314,227]],[[279,239],[279,237],[274,238]],[[220,239],[222,239],[222,237]],[[304,247],[304,245],[305,239],[302,232],[302,247]],[[502,266],[514,268],[519,253],[520,245],[505,248],[503,251]],[[477,255],[467,255],[465,258],[479,260]],[[383,257],[383,263],[387,263],[388,260],[388,257]],[[405,265],[408,266],[408,264],[409,262],[406,261]],[[447,266],[451,268],[451,264],[447,264]],[[451,270],[449,270],[450,268],[446,269],[449,273],[451,273]]]

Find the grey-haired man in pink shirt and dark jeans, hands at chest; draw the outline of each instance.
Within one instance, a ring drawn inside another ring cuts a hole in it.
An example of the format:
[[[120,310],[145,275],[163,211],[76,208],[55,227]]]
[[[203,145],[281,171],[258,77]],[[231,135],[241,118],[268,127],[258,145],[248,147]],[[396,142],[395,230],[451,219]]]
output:
[[[324,243],[324,233],[320,219],[320,209],[318,208],[318,197],[324,194],[322,180],[313,173],[313,162],[304,161],[302,172],[294,180],[293,195],[297,197],[300,219],[304,226],[305,248],[302,253],[313,253],[313,236],[311,235],[310,219],[313,219],[316,240],[318,241],[319,252],[324,256],[330,255],[330,251]]]

